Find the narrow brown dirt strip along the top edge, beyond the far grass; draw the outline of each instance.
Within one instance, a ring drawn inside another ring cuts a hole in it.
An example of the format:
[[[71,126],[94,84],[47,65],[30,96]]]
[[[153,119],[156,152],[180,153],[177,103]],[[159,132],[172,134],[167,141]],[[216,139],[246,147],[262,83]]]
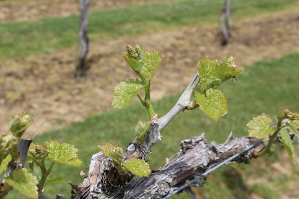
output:
[[[90,10],[125,7],[133,4],[174,0],[91,0]],[[0,2],[0,22],[38,20],[79,14],[78,0],[33,0]]]

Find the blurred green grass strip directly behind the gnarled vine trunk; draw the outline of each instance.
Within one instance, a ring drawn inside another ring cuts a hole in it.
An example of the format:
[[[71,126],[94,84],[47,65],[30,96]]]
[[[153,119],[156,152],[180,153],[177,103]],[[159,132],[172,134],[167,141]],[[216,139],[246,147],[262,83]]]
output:
[[[211,120],[205,116],[203,111],[196,109],[184,111],[177,115],[168,126],[162,131],[163,139],[152,147],[152,154],[149,155],[151,169],[157,169],[165,164],[165,158],[172,156],[179,151],[179,142],[191,136],[205,132],[208,141],[215,140],[218,144],[223,143],[230,131],[233,136],[247,135],[246,123],[253,117],[265,112],[275,117],[279,108],[289,108],[294,112],[299,112],[299,53],[288,55],[282,59],[265,60],[247,67],[238,75],[238,82],[233,84],[228,81],[220,87],[228,99],[229,112],[219,119]],[[153,101],[154,110],[159,116],[164,115],[176,103],[180,95],[166,97],[162,100]],[[53,130],[37,136],[35,142],[46,142],[49,139],[59,142],[74,144],[79,149],[79,157],[83,165],[79,168],[55,165],[50,178],[65,177],[66,181],[59,184],[49,185],[45,189],[45,194],[49,198],[54,198],[54,194],[59,193],[69,196],[70,186],[68,181],[75,184],[81,183],[83,177],[79,176],[81,170],[86,173],[92,154],[99,152],[96,144],[109,141],[113,144],[129,144],[134,138],[134,123],[140,120],[148,120],[148,115],[143,106],[139,103],[129,105],[123,110],[113,110],[94,115],[84,122],[73,123],[63,129]],[[161,153],[163,151],[163,153]],[[265,160],[270,164],[278,159],[279,153],[266,156]],[[240,165],[239,169],[244,170],[245,176],[265,175],[263,168]],[[242,182],[242,177],[237,176],[238,185],[232,186],[229,182],[230,176],[225,175],[225,170],[218,170],[214,177],[209,178],[207,186],[200,188],[205,199],[230,199],[250,193],[246,188],[246,182]],[[296,170],[297,173],[299,173]],[[281,182],[277,184],[280,186]],[[268,188],[267,188],[268,189]],[[270,189],[270,188],[269,188]],[[269,191],[268,189],[268,191]],[[237,190],[237,191],[236,191]],[[245,190],[245,191],[244,191]],[[252,192],[259,193],[256,187]],[[7,198],[20,198],[15,191]],[[188,198],[187,195],[180,195],[175,198]],[[245,197],[246,198],[246,197]]]

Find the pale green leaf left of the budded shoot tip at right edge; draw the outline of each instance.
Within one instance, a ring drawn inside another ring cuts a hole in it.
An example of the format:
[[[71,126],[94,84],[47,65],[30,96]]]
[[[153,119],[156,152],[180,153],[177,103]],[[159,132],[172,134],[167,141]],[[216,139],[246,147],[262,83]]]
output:
[[[265,113],[254,117],[246,124],[249,127],[249,136],[263,139],[271,135],[276,131],[276,128],[269,127],[271,122],[270,115],[266,115]]]

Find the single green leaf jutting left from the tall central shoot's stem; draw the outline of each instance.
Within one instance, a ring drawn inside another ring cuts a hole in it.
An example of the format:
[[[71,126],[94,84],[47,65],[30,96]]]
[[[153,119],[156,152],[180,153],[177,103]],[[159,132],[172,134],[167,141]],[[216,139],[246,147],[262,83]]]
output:
[[[112,98],[112,106],[118,109],[127,106],[139,92],[149,85],[144,86],[138,79],[129,79],[128,81],[121,82],[114,88],[114,96]]]

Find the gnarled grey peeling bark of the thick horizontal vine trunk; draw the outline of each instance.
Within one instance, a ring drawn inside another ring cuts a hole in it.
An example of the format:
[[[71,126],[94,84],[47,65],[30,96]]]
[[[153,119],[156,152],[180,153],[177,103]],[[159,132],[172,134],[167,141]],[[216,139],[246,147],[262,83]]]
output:
[[[191,137],[180,143],[182,146],[178,157],[172,161],[166,160],[166,165],[160,170],[152,171],[147,178],[133,178],[126,187],[115,189],[109,194],[103,188],[107,185],[104,182],[106,172],[110,169],[114,173],[113,163],[109,158],[105,158],[103,153],[93,156],[89,167],[89,172],[83,184],[73,195],[75,199],[158,199],[162,198],[180,186],[187,180],[197,177],[196,173],[202,174],[206,170],[218,165],[234,154],[242,151],[258,139],[253,137],[232,138],[231,142],[216,145],[215,142],[207,143],[204,133],[199,136]],[[267,143],[262,142],[251,150],[242,154],[234,161],[239,163],[249,163],[250,159],[255,158],[254,153],[265,148]],[[106,169],[105,169],[106,168]],[[91,180],[93,179],[93,180]],[[194,187],[202,187],[204,183],[198,180]],[[74,188],[73,188],[74,189]],[[185,189],[190,193],[190,189]],[[194,195],[193,195],[194,197]]]

